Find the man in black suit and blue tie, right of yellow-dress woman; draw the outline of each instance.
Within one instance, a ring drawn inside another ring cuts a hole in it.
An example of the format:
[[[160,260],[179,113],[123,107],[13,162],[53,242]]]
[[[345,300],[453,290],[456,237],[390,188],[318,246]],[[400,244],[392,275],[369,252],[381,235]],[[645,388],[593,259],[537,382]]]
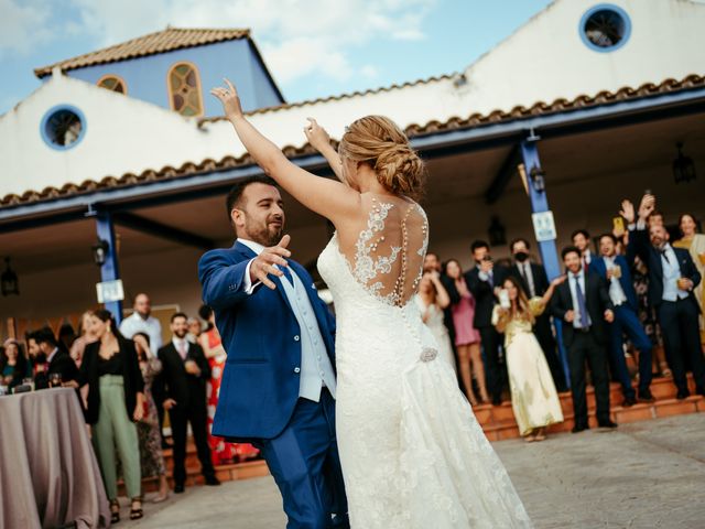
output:
[[[593,374],[597,423],[600,428],[616,428],[609,419],[609,379],[605,344],[608,331],[605,322],[615,319],[605,282],[596,273],[585,272],[581,250],[574,246],[561,252],[568,279],[558,285],[551,300],[553,317],[564,321],[563,343],[571,369],[571,392],[575,424],[573,433],[589,428],[585,397],[585,360]]]

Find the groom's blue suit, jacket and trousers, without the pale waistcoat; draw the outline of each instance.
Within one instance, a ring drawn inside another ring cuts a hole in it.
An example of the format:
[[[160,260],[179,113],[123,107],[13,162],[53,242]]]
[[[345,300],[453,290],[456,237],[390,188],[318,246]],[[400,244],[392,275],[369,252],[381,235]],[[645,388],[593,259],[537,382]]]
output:
[[[206,252],[198,263],[203,299],[215,312],[227,352],[213,433],[253,443],[284,498],[289,528],[326,528],[347,505],[335,442],[335,406],[324,388],[321,401],[299,397],[301,328],[281,279],[275,290],[245,291],[256,253],[241,242]],[[325,348],[335,365],[335,322],[313,279],[289,260],[305,285]],[[345,517],[337,517],[343,522]]]

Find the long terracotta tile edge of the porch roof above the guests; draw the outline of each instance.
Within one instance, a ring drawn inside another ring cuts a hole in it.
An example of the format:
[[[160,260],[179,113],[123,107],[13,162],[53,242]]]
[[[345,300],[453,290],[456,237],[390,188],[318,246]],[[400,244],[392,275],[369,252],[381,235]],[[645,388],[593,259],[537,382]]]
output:
[[[623,87],[617,91],[600,91],[595,96],[582,95],[573,100],[556,99],[553,102],[539,101],[531,107],[514,107],[509,111],[495,110],[487,115],[473,114],[467,117],[453,117],[447,121],[440,122],[436,120],[424,125],[412,123],[405,128],[405,132],[410,138],[432,134],[434,132],[470,129],[488,123],[498,123],[501,121],[513,121],[519,119],[531,118],[534,116],[545,116],[558,114],[579,108],[589,108],[599,105],[638,99],[642,97],[657,96],[679,90],[687,90],[692,88],[704,88],[705,76],[690,75],[681,80],[665,79],[661,84],[648,83],[638,88]],[[305,143],[301,147],[288,145],[283,149],[284,154],[289,158],[297,158],[304,154],[315,153],[315,149],[311,144]],[[164,166],[159,170],[147,170],[140,174],[127,173],[122,176],[106,176],[100,181],[86,181],[79,185],[66,184],[61,188],[46,187],[43,191],[28,191],[22,195],[11,194],[0,198],[0,207],[13,206],[18,204],[26,204],[37,201],[45,201],[68,195],[91,193],[96,190],[108,187],[119,187],[126,185],[134,185],[158,180],[178,179],[198,173],[207,173],[213,171],[223,171],[227,169],[246,166],[252,164],[249,154],[242,156],[225,156],[221,160],[206,159],[198,163],[187,162],[180,168]]]

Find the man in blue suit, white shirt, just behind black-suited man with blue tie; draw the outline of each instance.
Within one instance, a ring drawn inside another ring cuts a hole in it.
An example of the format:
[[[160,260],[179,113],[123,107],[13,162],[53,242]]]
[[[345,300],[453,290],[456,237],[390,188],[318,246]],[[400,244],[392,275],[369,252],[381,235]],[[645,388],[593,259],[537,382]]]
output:
[[[639,400],[651,402],[653,397],[649,386],[651,385],[651,349],[653,346],[637,313],[639,302],[630,271],[636,255],[632,250],[628,251],[627,257],[617,255],[617,239],[612,234],[600,235],[599,251],[601,257],[593,259],[590,270],[607,281],[609,299],[615,306],[615,321],[609,326],[609,357],[612,374],[621,384],[625,395],[622,406],[637,403],[637,395],[631,386],[631,377],[625,360],[625,334],[639,350]]]

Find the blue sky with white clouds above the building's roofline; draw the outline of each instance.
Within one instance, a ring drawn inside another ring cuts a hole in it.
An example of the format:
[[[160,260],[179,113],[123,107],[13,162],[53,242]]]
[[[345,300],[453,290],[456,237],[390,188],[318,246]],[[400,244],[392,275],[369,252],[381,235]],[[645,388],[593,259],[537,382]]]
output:
[[[249,28],[290,102],[463,71],[551,0],[0,0],[0,115],[33,68],[175,28]]]

